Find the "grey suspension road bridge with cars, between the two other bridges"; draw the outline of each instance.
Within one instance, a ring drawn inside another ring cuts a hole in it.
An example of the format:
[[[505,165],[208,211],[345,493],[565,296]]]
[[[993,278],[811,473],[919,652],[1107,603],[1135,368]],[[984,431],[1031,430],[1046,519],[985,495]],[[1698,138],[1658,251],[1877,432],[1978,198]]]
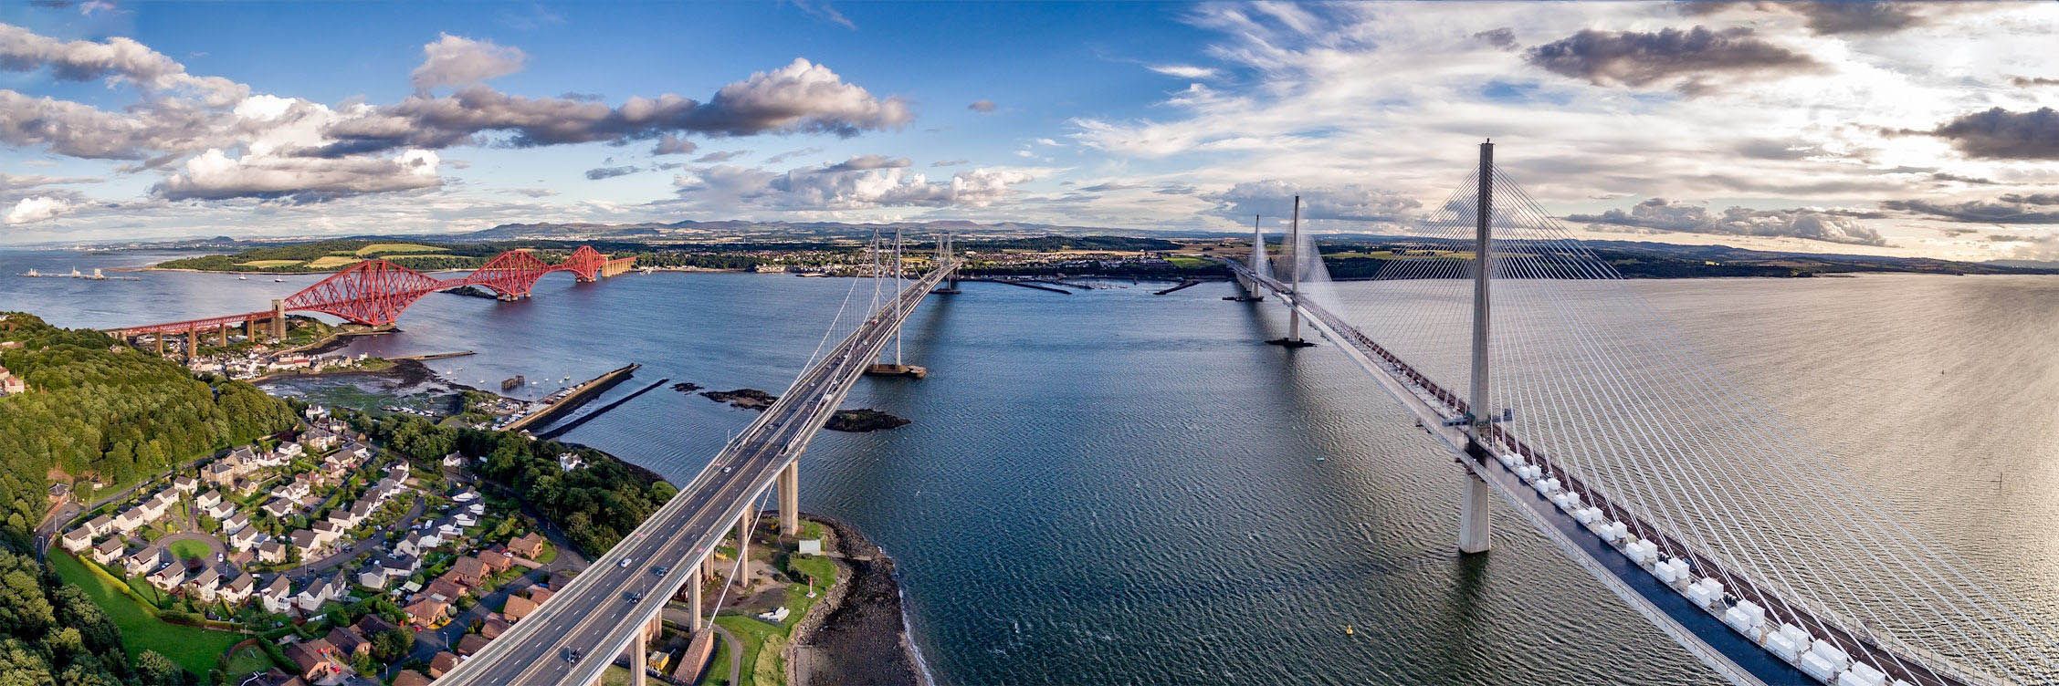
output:
[[[873,253],[875,274],[883,274],[877,262],[881,251]],[[677,496],[437,684],[595,684],[616,655],[628,655],[634,684],[644,684],[644,643],[657,632],[665,604],[684,589],[692,616],[700,622],[702,575],[714,567],[714,546],[725,531],[737,529],[735,560],[747,560],[745,546],[749,527],[758,521],[758,503],[776,488],[780,531],[799,534],[801,451],[830,420],[850,385],[889,342],[898,342],[908,313],[959,264],[943,243],[935,268],[920,278],[900,278],[898,245],[894,262],[896,290],[881,301],[875,286],[877,307],[834,348],[817,350],[778,402],[731,439],[694,480],[682,484]],[[844,303],[850,305],[850,299]],[[729,577],[739,575],[731,571]]]

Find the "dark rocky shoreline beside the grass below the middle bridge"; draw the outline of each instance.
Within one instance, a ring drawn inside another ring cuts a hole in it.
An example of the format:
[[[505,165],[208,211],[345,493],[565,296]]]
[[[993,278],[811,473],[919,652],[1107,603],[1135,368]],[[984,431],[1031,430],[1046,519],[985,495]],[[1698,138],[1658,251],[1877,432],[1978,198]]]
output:
[[[824,548],[840,554],[836,569],[842,583],[795,626],[787,645],[787,682],[929,686],[902,620],[894,558],[842,521],[801,517],[830,529]]]

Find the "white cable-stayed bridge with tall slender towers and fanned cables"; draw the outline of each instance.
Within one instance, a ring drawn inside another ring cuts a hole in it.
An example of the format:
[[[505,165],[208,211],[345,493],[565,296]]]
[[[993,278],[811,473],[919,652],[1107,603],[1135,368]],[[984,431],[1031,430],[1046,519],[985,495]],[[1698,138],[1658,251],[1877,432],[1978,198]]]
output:
[[[1307,319],[1452,449],[1462,552],[1489,550],[1497,494],[1736,684],[2059,682],[2049,616],[1725,383],[1491,144],[1371,282],[1330,282],[1297,218],[1281,266],[1262,235],[1227,264],[1291,307],[1275,344]]]

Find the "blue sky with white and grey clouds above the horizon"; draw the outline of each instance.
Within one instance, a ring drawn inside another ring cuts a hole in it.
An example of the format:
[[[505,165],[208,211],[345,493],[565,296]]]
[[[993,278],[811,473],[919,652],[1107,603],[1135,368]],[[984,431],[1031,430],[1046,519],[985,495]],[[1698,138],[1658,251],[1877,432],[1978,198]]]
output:
[[[1314,231],[1408,231],[1495,136],[1596,237],[2059,258],[2053,4],[89,2],[0,25],[0,243],[1233,229],[1293,194]]]

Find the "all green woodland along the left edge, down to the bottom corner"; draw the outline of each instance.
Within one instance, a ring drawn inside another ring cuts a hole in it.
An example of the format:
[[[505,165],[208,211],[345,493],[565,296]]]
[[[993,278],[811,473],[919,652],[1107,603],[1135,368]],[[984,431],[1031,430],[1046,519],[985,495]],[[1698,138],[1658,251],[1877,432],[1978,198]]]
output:
[[[47,474],[126,484],[284,431],[292,410],[249,383],[208,385],[105,334],[25,313],[0,313],[0,367],[29,383],[0,398],[0,686],[187,684],[159,653],[130,665],[107,614],[35,560]]]

